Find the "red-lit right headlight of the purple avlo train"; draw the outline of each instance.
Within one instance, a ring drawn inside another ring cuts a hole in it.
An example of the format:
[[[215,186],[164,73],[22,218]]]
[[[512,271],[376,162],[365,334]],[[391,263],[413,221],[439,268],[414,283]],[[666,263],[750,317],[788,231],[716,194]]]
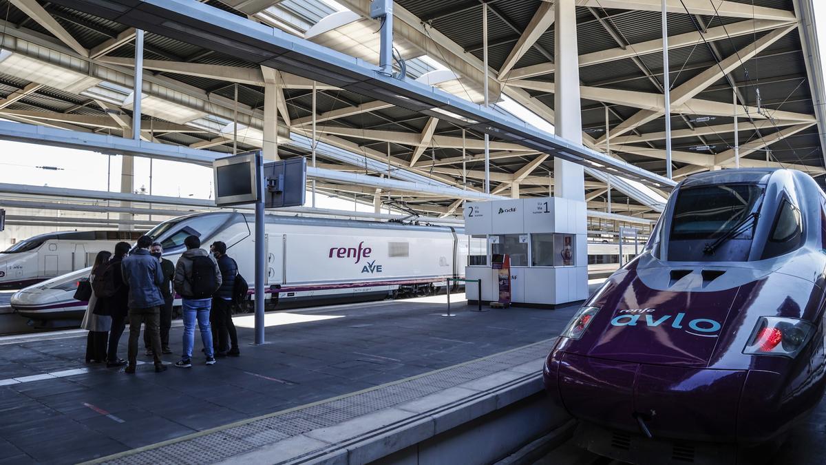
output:
[[[794,358],[809,342],[814,326],[796,318],[763,316],[754,325],[743,353]]]

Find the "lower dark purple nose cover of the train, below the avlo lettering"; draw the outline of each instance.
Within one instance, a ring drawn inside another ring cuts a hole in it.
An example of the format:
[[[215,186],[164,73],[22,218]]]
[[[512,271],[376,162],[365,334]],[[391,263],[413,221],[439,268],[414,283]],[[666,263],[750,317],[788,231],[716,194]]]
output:
[[[746,371],[555,357],[546,380],[556,372],[558,400],[579,419],[655,438],[736,440]]]

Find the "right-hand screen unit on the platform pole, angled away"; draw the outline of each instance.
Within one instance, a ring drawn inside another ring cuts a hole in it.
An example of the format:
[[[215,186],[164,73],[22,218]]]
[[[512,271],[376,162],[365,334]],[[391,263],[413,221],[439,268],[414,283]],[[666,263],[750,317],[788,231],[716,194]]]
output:
[[[289,160],[265,163],[263,177],[267,180],[267,189],[264,192],[266,208],[304,206],[307,180],[306,158],[298,156]]]

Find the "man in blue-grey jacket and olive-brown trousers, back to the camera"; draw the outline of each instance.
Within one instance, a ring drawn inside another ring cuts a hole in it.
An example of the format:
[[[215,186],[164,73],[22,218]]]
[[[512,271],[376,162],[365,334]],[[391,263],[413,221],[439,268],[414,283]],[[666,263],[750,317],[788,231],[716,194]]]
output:
[[[129,366],[127,373],[134,373],[138,358],[138,339],[140,325],[146,324],[146,332],[150,333],[152,351],[154,352],[155,372],[166,370],[164,362],[160,360],[160,306],[164,304],[164,296],[160,294],[159,286],[164,283],[164,271],[160,261],[150,255],[152,239],[149,236],[138,238],[138,247],[131,256],[123,260],[123,282],[129,285]]]

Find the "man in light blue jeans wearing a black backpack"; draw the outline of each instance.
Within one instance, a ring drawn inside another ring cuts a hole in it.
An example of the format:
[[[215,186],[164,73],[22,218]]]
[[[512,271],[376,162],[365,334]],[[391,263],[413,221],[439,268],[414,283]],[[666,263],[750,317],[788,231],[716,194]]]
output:
[[[183,299],[183,357],[176,367],[192,367],[192,346],[195,345],[195,320],[201,329],[201,341],[207,354],[207,365],[215,365],[212,352],[212,333],[209,312],[212,295],[221,287],[221,271],[218,263],[201,247],[201,239],[189,236],[184,239],[187,252],[183,252],[175,266],[173,283],[175,291]]]

